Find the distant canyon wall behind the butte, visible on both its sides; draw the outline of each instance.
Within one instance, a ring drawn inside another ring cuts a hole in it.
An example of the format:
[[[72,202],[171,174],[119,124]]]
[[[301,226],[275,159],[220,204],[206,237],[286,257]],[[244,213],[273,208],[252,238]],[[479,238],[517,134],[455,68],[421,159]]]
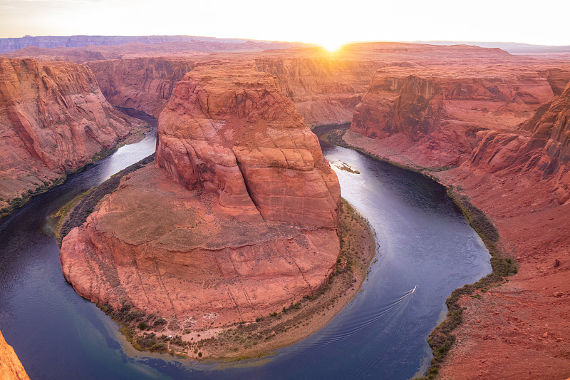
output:
[[[276,77],[281,90],[309,125],[350,122],[378,61],[323,57],[227,56]],[[182,76],[208,58],[132,58],[86,63],[95,73],[103,94],[113,106],[136,108],[157,117]]]

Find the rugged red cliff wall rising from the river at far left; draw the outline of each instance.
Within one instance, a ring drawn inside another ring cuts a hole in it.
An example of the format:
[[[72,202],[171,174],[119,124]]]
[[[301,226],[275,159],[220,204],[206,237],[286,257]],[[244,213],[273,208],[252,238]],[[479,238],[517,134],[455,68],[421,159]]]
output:
[[[0,208],[112,148],[131,123],[85,66],[0,58]]]

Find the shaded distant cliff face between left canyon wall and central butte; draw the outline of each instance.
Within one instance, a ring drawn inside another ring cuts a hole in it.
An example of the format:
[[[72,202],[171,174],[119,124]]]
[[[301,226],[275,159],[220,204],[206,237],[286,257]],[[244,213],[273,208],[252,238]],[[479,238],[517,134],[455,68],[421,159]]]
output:
[[[176,83],[195,63],[185,58],[135,58],[87,65],[113,106],[136,108],[157,118]]]

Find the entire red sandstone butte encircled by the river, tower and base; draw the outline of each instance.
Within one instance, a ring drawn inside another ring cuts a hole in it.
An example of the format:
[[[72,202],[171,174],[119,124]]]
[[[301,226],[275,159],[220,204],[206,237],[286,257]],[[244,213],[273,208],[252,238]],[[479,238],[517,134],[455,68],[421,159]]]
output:
[[[273,76],[188,73],[160,114],[156,163],[63,239],[83,297],[219,326],[279,311],[335,268],[340,186]]]

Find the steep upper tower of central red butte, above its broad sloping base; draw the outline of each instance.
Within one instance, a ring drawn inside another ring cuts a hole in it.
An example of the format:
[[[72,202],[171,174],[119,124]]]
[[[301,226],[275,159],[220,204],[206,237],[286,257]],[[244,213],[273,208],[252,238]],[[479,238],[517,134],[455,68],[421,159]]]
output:
[[[223,66],[192,72],[159,123],[158,165],[185,188],[214,192],[220,212],[338,225],[336,175],[272,76]]]

